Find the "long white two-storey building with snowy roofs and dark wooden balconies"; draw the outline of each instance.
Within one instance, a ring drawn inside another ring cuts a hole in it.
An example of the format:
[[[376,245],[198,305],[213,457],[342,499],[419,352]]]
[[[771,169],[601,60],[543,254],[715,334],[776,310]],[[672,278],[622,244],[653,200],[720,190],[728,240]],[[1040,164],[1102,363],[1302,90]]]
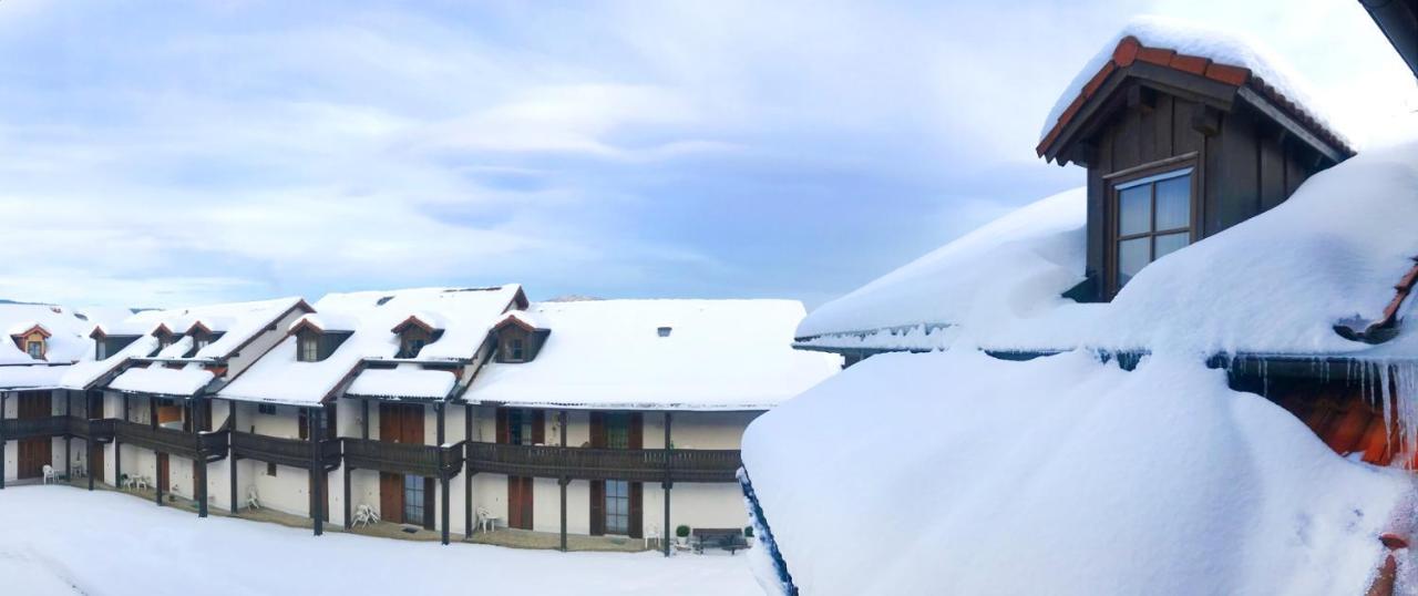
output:
[[[0,387],[0,487],[50,465],[316,534],[369,509],[444,542],[492,526],[668,548],[679,525],[747,525],[744,429],[839,369],[790,348],[803,315],[505,285],[145,311],[71,325],[60,343],[85,348],[62,362],[17,332],[14,366],[52,370]]]

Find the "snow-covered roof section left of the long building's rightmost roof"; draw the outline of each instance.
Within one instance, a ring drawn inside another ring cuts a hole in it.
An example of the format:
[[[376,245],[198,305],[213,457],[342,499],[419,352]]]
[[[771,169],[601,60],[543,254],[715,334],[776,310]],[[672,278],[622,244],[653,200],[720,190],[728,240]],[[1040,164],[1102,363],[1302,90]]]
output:
[[[495,288],[414,288],[396,291],[364,291],[329,294],[315,302],[315,319],[340,321],[339,326],[353,328],[349,338],[335,352],[319,362],[296,359],[298,339],[285,338],[265,356],[223,387],[223,399],[272,402],[286,404],[316,404],[330,397],[345,382],[356,382],[374,370],[360,370],[367,359],[393,359],[398,353],[398,336],[391,331],[414,312],[432,314],[444,325],[438,341],[418,353],[418,360],[458,363],[471,360],[482,348],[492,325],[509,308],[525,301],[522,287]],[[393,372],[404,372],[394,369]],[[376,377],[387,377],[380,372]],[[376,383],[387,387],[389,379]],[[413,375],[410,387],[425,387],[424,375]]]

